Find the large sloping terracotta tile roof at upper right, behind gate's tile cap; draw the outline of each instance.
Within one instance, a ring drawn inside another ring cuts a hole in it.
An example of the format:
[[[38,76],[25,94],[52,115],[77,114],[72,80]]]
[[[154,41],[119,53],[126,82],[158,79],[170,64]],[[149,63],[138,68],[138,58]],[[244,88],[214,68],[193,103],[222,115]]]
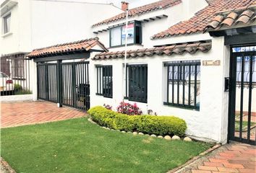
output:
[[[203,32],[205,27],[216,16],[216,12],[226,9],[236,9],[242,6],[250,6],[256,0],[214,0],[211,4],[206,6],[195,14],[194,17],[177,23],[163,32],[153,35],[153,39],[171,37],[174,35],[192,34],[196,32]]]

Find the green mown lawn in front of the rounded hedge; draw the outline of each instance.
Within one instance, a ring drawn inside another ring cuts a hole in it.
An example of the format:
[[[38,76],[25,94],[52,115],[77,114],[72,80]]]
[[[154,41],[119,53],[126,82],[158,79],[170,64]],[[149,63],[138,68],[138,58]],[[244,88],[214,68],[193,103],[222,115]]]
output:
[[[100,128],[86,118],[1,129],[17,172],[167,172],[210,147]]]

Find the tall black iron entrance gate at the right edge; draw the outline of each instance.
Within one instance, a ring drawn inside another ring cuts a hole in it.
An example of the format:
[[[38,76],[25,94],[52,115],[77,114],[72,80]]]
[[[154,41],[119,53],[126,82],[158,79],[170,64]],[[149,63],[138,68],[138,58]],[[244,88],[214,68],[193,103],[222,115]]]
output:
[[[229,139],[255,145],[256,46],[231,48]]]

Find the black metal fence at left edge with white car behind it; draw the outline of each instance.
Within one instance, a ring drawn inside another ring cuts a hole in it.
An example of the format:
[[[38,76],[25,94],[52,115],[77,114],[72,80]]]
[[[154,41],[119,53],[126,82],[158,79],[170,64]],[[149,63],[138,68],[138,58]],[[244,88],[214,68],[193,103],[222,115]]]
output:
[[[0,91],[3,95],[32,94],[31,61],[25,53],[1,56]]]

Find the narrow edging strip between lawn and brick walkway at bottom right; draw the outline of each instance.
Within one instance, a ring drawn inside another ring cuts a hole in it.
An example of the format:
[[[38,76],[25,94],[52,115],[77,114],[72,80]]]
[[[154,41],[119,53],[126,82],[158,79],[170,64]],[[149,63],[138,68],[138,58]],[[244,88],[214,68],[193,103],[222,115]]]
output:
[[[215,146],[209,148],[206,151],[203,151],[202,153],[200,153],[198,156],[193,157],[192,159],[190,159],[189,161],[187,161],[186,163],[180,165],[179,167],[176,167],[174,169],[169,170],[166,173],[178,173],[179,171],[182,171],[182,169],[184,169],[184,167],[189,166],[189,164],[192,164],[194,161],[196,161],[197,159],[200,159],[202,156],[205,156],[206,154],[209,154],[210,152],[216,150],[217,148],[220,148],[221,144],[218,143]]]

